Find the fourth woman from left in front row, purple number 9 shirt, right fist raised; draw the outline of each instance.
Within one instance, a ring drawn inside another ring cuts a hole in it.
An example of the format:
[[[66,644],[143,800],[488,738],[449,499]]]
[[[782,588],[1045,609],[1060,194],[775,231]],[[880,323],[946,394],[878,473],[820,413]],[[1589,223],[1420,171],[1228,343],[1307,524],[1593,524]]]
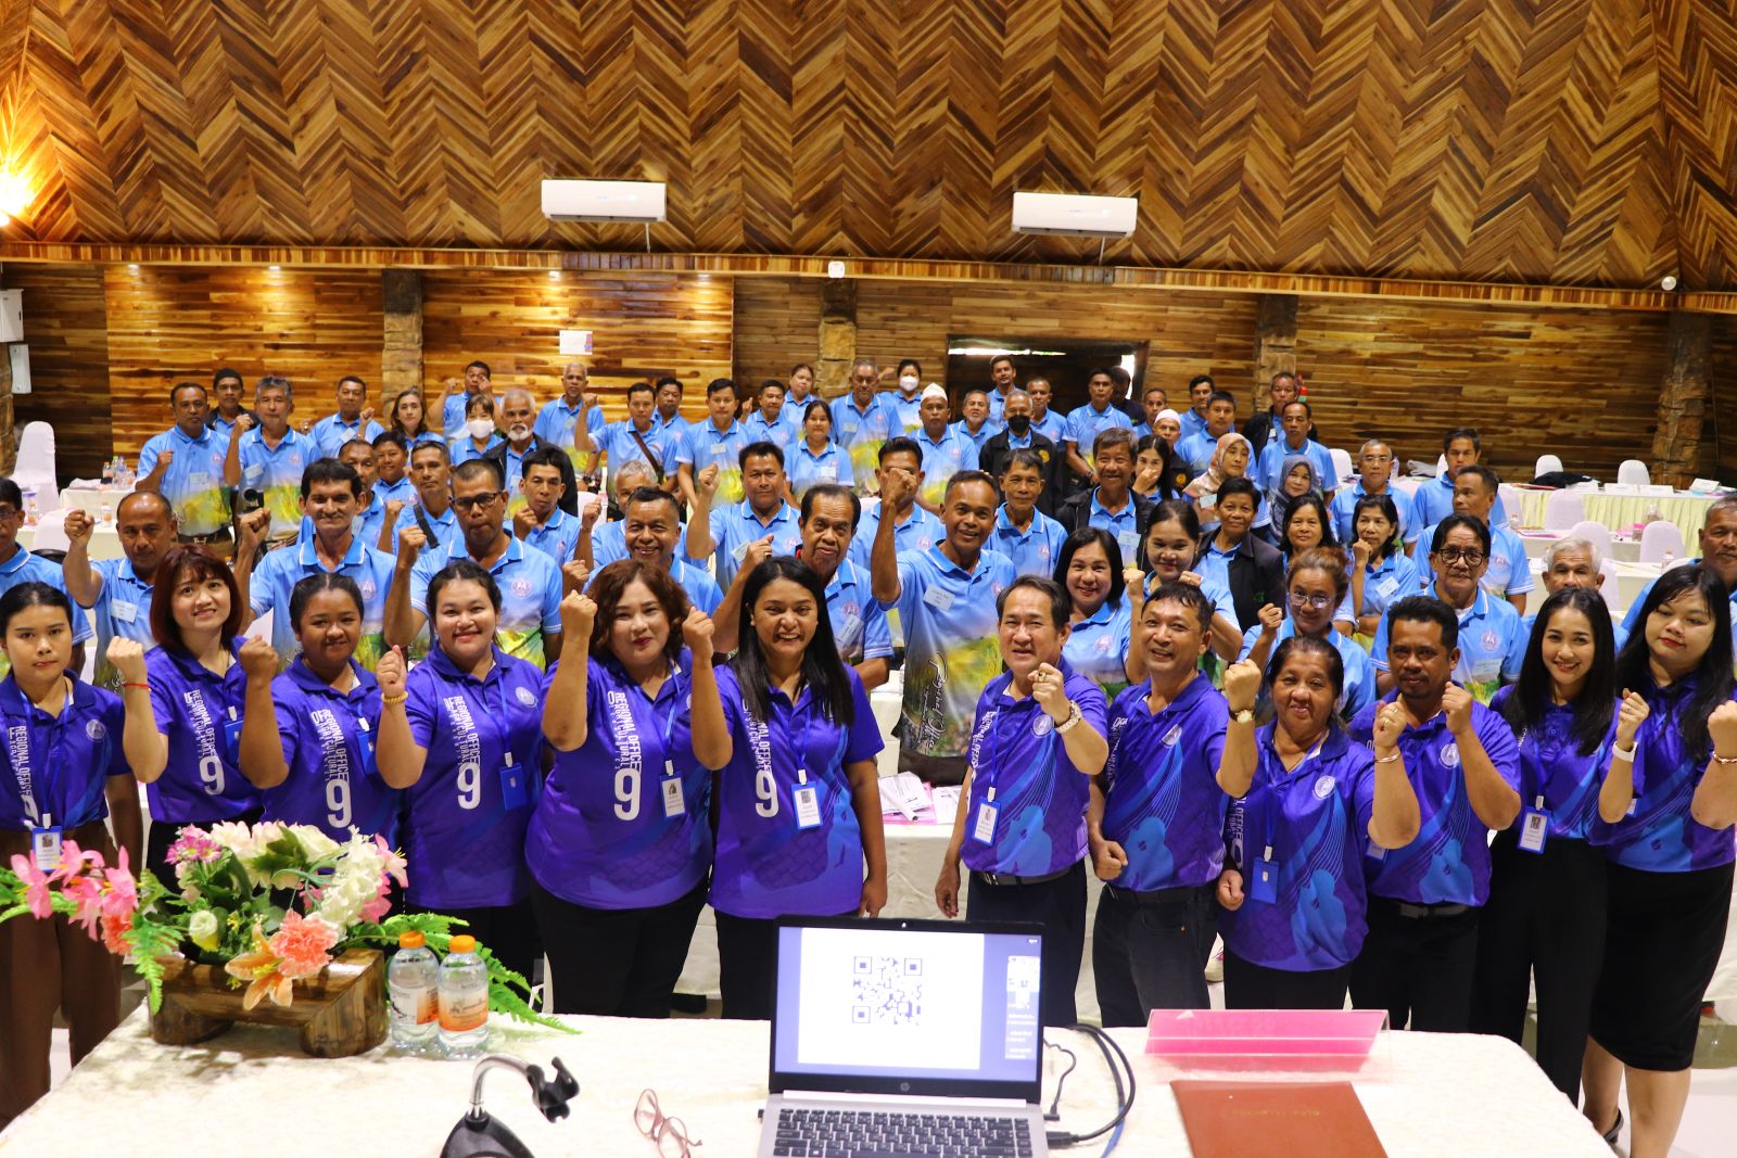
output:
[[[387,783],[406,786],[410,911],[438,910],[530,977],[540,953],[525,828],[542,778],[542,668],[495,644],[500,589],[457,559],[429,578],[427,660],[408,675],[380,656],[380,748]]]

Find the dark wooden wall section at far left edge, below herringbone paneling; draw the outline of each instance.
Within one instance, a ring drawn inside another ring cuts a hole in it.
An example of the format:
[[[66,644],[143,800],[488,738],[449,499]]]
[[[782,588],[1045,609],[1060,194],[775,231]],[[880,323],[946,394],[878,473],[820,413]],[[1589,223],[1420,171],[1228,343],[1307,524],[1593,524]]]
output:
[[[14,429],[47,422],[54,427],[57,474],[101,476],[113,455],[102,269],[12,262],[0,271],[0,286],[24,292],[31,392],[12,398]]]

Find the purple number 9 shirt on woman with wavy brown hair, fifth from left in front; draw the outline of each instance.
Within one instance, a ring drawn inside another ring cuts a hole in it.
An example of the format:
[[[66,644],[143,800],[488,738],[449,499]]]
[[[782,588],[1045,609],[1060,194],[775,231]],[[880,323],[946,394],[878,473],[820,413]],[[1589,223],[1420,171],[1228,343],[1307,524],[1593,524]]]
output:
[[[549,670],[549,684],[561,665]],[[648,698],[615,656],[585,667],[585,743],[556,752],[525,835],[532,877],[591,908],[651,908],[712,865],[712,773],[693,755],[693,656]],[[679,811],[665,785],[681,785]]]

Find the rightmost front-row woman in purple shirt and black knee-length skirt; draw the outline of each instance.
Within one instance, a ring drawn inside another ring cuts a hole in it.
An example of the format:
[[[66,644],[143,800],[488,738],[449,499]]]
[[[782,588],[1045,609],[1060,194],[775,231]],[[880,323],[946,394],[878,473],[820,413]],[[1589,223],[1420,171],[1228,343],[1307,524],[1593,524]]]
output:
[[[1706,566],[1666,571],[1617,660],[1626,696],[1598,793],[1608,859],[1605,960],[1581,1082],[1584,1113],[1615,1139],[1628,1082],[1631,1158],[1664,1158],[1688,1102],[1701,1000],[1730,917],[1737,703],[1730,601]]]

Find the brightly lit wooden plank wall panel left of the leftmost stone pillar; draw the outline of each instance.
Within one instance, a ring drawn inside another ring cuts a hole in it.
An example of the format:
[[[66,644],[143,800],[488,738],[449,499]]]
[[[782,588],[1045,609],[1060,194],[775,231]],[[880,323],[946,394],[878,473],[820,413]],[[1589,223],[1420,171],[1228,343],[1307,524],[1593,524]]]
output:
[[[332,413],[346,373],[361,375],[377,401],[377,271],[109,266],[104,292],[115,450],[129,458],[168,427],[168,389],[182,378],[210,382],[219,366],[234,366],[247,382],[285,375],[297,420]]]

